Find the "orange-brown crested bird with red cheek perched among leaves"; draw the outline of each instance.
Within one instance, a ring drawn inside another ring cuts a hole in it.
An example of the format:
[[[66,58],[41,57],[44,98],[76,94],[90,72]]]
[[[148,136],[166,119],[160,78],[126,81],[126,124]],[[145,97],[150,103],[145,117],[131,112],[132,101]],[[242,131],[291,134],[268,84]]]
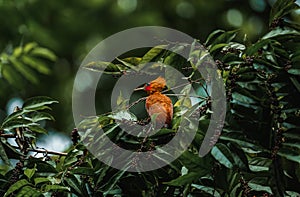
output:
[[[166,86],[166,80],[159,76],[144,85],[147,92],[145,108],[156,129],[171,126],[173,118],[172,100],[161,93]]]

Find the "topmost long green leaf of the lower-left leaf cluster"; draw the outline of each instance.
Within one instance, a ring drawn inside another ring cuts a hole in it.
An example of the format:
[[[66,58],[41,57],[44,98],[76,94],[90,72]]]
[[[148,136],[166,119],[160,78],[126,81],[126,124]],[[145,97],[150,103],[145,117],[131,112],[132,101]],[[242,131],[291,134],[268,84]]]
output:
[[[43,109],[44,105],[50,105],[53,103],[58,103],[58,101],[46,96],[37,96],[27,99],[22,108],[25,110],[39,110]]]

